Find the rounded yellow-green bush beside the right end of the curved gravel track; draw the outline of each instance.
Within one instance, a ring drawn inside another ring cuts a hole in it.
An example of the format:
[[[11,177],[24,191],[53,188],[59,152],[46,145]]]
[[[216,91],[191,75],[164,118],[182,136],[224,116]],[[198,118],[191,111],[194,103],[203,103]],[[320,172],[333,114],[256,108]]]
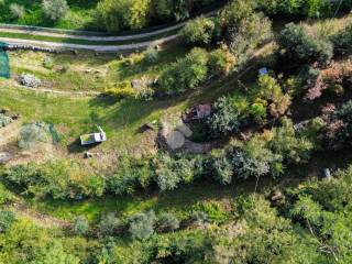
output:
[[[212,19],[198,18],[186,24],[180,37],[187,45],[208,45],[212,41],[215,29]]]

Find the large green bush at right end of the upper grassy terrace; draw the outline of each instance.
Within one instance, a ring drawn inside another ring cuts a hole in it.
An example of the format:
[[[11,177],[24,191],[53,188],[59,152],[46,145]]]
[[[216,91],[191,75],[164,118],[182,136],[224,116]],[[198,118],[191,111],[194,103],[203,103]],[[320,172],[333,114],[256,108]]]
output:
[[[157,87],[166,95],[177,95],[196,89],[207,77],[208,54],[205,50],[194,48],[185,58],[161,74]]]

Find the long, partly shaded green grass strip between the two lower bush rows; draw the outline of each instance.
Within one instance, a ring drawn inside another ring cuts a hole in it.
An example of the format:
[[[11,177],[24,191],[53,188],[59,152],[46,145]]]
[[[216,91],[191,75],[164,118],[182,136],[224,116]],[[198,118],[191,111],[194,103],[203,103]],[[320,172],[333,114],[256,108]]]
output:
[[[276,184],[268,179],[263,180],[262,190],[267,193]],[[124,196],[103,197],[101,199],[90,199],[85,201],[53,201],[53,200],[31,200],[26,202],[36,210],[64,220],[73,220],[76,216],[82,215],[90,222],[99,220],[101,215],[116,212],[119,217],[127,218],[131,215],[153,209],[155,212],[173,212],[179,219],[190,216],[195,205],[199,202],[217,201],[227,204],[239,195],[252,193],[255,182],[239,182],[231,186],[219,186],[218,184],[204,183],[196,186],[183,186],[177,190]]]

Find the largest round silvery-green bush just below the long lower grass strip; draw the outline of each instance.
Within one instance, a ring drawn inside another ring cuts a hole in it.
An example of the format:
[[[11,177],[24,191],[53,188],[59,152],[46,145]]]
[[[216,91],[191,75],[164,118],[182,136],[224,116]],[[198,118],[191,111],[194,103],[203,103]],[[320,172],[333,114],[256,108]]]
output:
[[[129,232],[132,239],[146,240],[154,233],[155,212],[150,210],[147,212],[135,213],[130,218],[129,222]]]

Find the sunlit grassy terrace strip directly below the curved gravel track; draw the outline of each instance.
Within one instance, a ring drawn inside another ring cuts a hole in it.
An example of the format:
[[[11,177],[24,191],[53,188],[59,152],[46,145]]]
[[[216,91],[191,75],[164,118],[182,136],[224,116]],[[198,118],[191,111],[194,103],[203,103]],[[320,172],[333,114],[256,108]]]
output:
[[[35,52],[10,52],[12,76],[30,73],[45,82],[45,88],[72,91],[103,91],[119,81],[131,81],[143,75],[154,77],[168,64],[183,57],[186,48],[169,46],[160,53],[155,63],[143,61],[143,54],[128,58],[94,53],[44,54]],[[45,57],[53,61],[53,68],[44,67]],[[131,64],[132,62],[132,64]]]

